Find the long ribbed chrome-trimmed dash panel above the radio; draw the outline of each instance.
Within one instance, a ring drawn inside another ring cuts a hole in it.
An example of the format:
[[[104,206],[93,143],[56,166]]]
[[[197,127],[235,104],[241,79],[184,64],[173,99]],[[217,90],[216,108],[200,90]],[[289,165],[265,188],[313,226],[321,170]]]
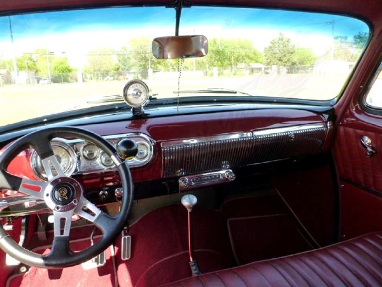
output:
[[[319,152],[322,124],[162,143],[163,177],[183,176]]]

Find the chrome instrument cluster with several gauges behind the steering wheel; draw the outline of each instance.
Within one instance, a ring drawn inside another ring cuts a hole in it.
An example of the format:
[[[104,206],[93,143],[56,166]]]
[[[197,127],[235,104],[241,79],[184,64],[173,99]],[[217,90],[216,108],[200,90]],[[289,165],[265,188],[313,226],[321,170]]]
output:
[[[130,168],[148,164],[154,155],[154,141],[145,134],[130,133],[104,136],[112,145],[116,146],[122,139],[134,140],[138,145],[136,157],[128,160]],[[94,143],[84,140],[67,140],[56,138],[51,141],[52,150],[66,176],[73,174],[89,174],[116,169],[111,158]],[[35,150],[30,154],[32,170],[42,180],[47,180],[40,156]],[[51,166],[53,175],[55,170]]]

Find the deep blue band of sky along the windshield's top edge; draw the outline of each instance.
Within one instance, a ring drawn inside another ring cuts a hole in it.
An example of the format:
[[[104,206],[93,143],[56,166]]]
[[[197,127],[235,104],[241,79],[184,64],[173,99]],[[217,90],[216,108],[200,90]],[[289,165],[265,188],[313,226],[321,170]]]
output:
[[[73,29],[106,30],[115,28],[139,28],[142,26],[171,26],[175,31],[175,10],[163,7],[112,8],[90,11],[65,11],[19,15],[11,18],[14,38],[28,36],[29,33],[67,33]],[[334,36],[352,37],[359,31],[367,31],[367,26],[359,20],[343,16],[314,13],[299,13],[285,10],[257,10],[245,8],[192,7],[182,11],[181,27],[210,25],[227,29],[256,28],[296,30],[300,33],[321,32]],[[69,24],[68,24],[69,23]],[[0,20],[1,38],[9,36],[8,17]]]

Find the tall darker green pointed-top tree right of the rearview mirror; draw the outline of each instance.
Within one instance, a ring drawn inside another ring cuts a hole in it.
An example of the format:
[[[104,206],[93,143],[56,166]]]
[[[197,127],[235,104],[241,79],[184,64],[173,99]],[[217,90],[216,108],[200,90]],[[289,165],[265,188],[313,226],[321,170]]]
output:
[[[280,67],[293,64],[295,51],[295,45],[291,43],[290,38],[280,33],[276,39],[270,41],[269,46],[264,48],[264,64],[277,65],[277,71],[280,73]]]

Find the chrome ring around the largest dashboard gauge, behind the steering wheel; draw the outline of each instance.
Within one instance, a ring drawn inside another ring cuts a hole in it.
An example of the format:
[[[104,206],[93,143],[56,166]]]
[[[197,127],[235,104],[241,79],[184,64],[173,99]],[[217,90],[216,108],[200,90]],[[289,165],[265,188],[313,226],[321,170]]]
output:
[[[76,155],[76,152],[74,151],[74,149],[66,142],[62,141],[62,140],[58,140],[58,139],[53,139],[52,142],[51,142],[51,146],[52,146],[52,149],[54,147],[59,147],[59,148],[62,148],[63,150],[65,150],[65,152],[68,153],[69,155],[69,158],[68,158],[68,166],[63,169],[64,173],[66,176],[71,176],[74,171],[76,170],[77,168],[77,155]],[[45,170],[44,170],[44,167],[42,166],[42,162],[41,162],[41,159],[40,159],[40,156],[39,154],[36,152],[36,150],[33,150],[32,153],[31,153],[31,157],[30,157],[30,163],[31,163],[31,167],[32,167],[32,170],[34,172],[34,174],[36,174],[36,176],[40,179],[42,179],[43,181],[47,181],[48,180],[48,177],[45,173]]]

